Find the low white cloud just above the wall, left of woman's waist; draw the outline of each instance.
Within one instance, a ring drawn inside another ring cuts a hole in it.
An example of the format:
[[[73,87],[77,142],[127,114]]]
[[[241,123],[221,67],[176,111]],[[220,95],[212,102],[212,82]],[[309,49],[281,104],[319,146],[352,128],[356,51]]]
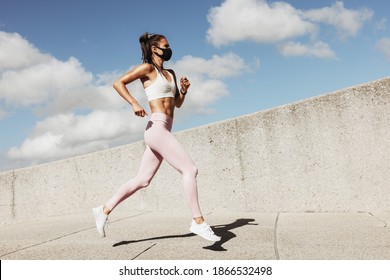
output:
[[[20,147],[9,149],[11,160],[37,164],[139,140],[145,123],[130,122],[130,110],[59,114],[38,122]]]

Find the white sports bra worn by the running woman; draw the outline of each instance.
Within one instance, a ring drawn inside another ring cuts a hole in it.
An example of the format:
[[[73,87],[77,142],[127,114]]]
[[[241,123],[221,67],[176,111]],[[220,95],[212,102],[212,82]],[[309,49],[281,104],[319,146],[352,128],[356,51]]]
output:
[[[171,76],[171,82],[169,82],[164,77],[164,75],[157,70],[157,68],[156,71],[157,71],[156,80],[154,80],[151,85],[145,88],[145,93],[148,98],[148,101],[152,101],[154,99],[159,99],[164,97],[175,98],[176,84],[173,75],[169,71],[167,71]]]

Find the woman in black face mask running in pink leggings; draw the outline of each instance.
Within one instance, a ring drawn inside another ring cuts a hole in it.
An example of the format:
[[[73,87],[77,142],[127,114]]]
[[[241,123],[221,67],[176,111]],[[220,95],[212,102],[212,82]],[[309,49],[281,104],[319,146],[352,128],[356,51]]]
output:
[[[165,159],[183,176],[184,193],[193,218],[190,231],[209,241],[220,241],[221,238],[215,235],[204,220],[199,207],[196,183],[198,169],[171,133],[174,109],[180,108],[183,104],[190,81],[187,77],[182,77],[179,90],[174,71],[164,68],[164,62],[172,56],[165,36],[145,33],[139,41],[143,63],[120,77],[114,83],[114,88],[132,106],[136,116],[145,117],[148,115],[147,112],[126,87],[127,84],[141,80],[152,112],[144,133],[147,146],[138,174],[123,184],[106,204],[93,209],[97,230],[102,237],[106,236],[105,225],[108,215],[119,203],[147,187]]]

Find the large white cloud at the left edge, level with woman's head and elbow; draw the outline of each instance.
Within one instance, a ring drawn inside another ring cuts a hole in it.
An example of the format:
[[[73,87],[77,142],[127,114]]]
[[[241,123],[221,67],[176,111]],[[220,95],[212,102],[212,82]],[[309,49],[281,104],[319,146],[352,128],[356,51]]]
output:
[[[95,77],[74,57],[58,60],[19,34],[0,32],[0,101],[6,105],[33,107],[46,115],[118,109],[123,103],[112,90],[112,77]]]

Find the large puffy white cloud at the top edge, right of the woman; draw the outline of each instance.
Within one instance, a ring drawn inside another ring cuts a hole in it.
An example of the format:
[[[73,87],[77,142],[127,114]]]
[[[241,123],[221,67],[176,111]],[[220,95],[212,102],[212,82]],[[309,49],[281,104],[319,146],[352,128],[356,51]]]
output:
[[[208,21],[207,39],[215,46],[243,40],[274,43],[317,29],[290,4],[263,0],[226,0],[210,10]]]

